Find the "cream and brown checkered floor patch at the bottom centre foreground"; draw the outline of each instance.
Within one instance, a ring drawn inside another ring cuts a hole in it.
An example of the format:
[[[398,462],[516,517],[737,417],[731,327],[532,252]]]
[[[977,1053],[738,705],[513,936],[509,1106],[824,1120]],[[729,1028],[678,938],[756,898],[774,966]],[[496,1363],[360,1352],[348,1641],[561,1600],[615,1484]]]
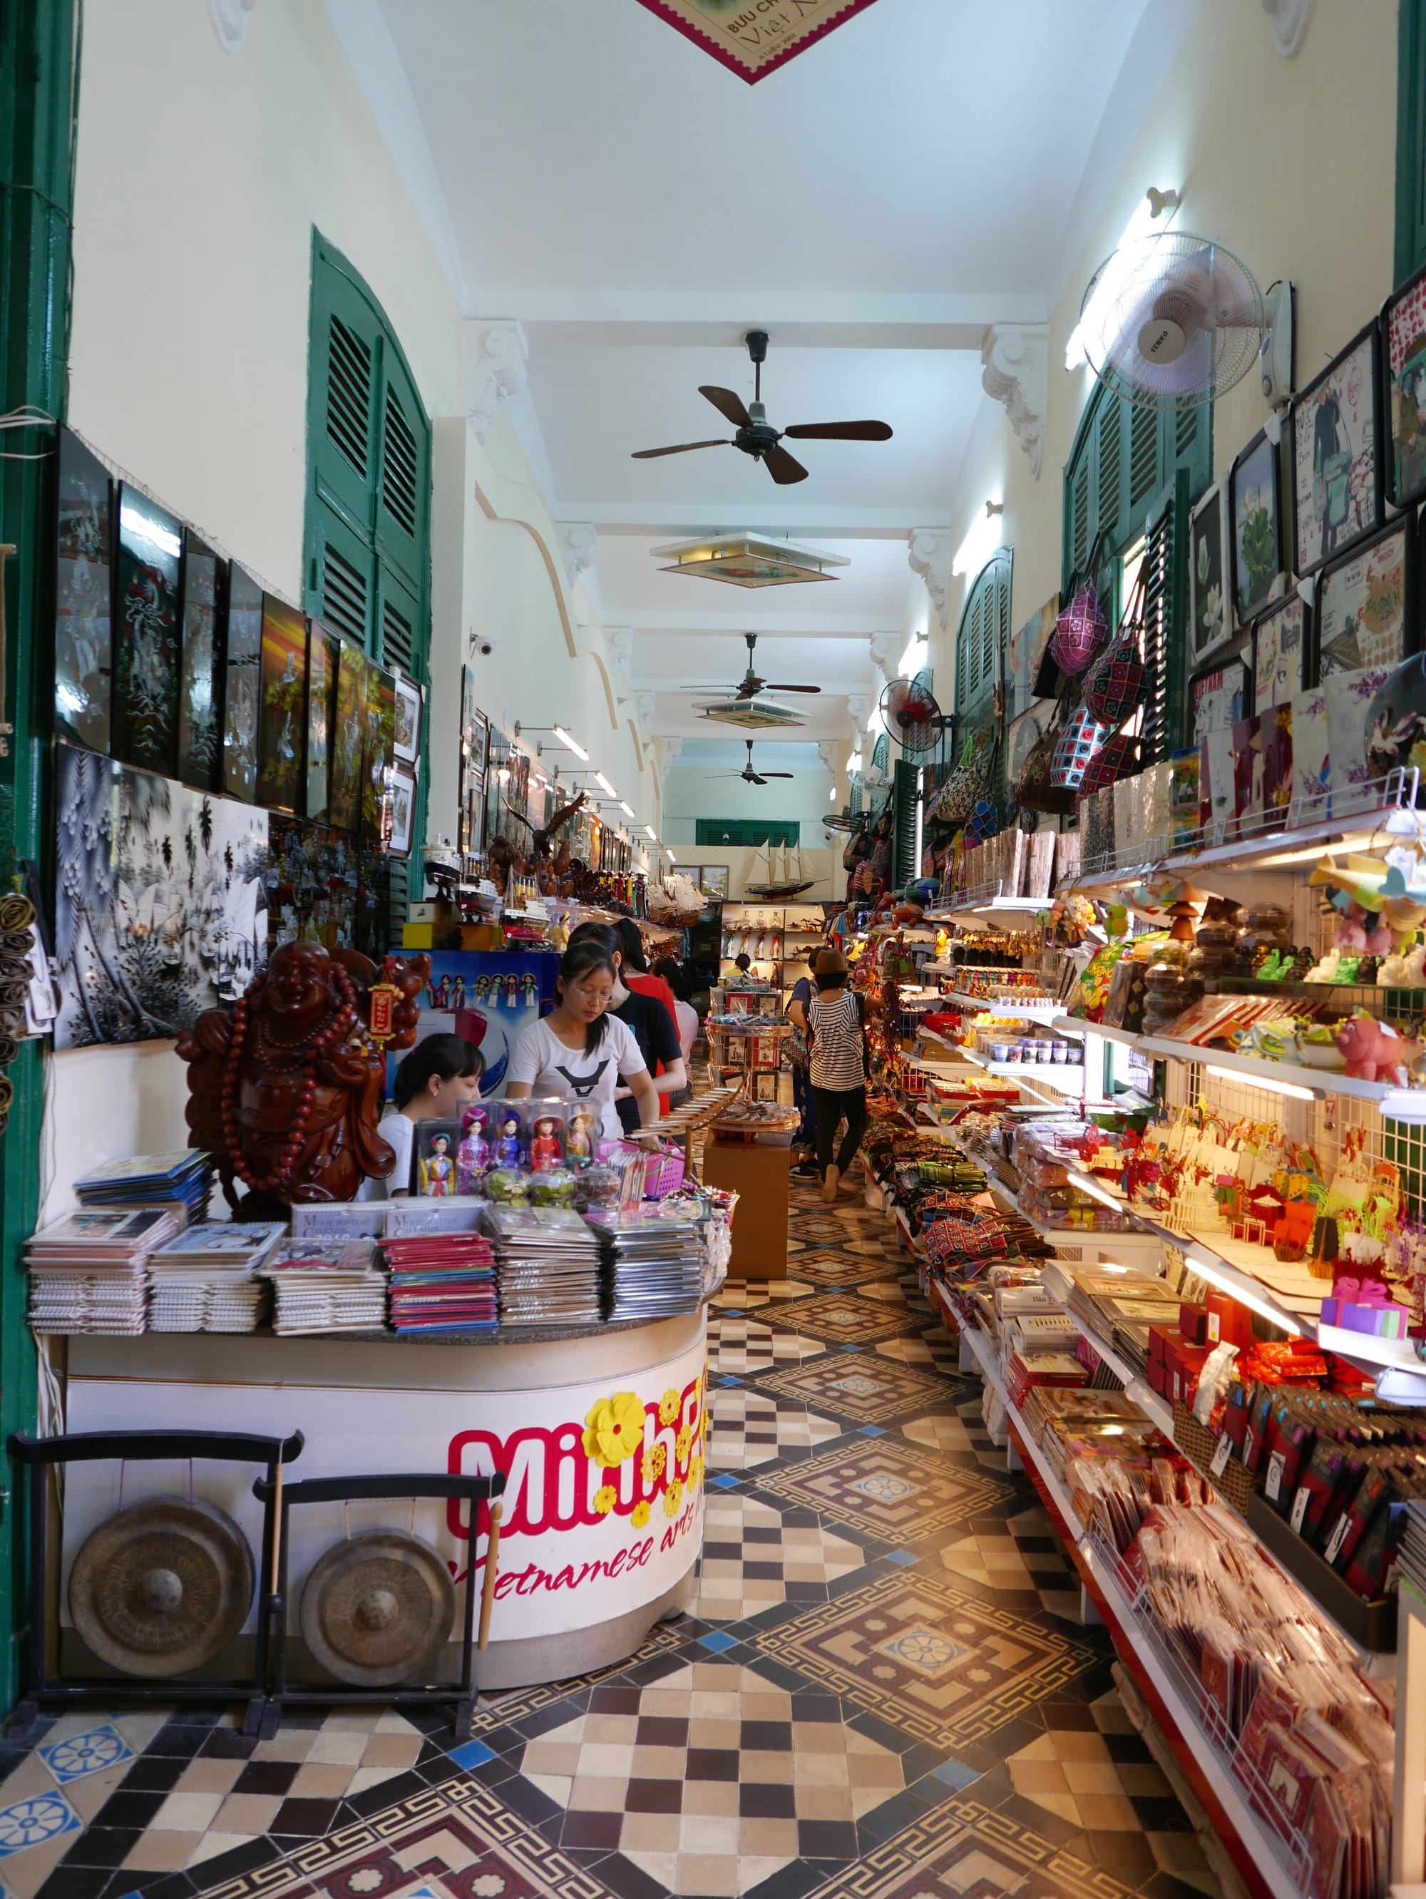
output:
[[[613,1840],[668,1893],[746,1893],[790,1859],[854,1857],[856,1821],[902,1789],[896,1753],[830,1698],[807,1702],[695,1662],[640,1692],[596,1690],[526,1747],[522,1774],[568,1808],[562,1844]]]

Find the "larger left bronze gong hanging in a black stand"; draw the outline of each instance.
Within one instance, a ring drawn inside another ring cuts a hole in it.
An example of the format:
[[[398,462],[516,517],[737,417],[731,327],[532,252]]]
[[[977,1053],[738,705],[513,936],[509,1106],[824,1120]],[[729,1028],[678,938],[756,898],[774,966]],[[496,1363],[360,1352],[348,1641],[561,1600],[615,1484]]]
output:
[[[150,1496],[85,1538],[70,1569],[70,1618],[125,1675],[186,1675],[237,1637],[254,1580],[253,1550],[230,1515]]]

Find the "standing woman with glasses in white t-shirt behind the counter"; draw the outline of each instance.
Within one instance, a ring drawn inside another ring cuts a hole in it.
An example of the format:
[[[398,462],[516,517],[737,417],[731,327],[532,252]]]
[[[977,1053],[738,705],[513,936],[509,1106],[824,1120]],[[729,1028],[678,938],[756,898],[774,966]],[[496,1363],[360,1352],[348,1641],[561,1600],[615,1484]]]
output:
[[[659,1119],[659,1094],[632,1029],[610,1014],[615,989],[613,957],[598,942],[564,951],[558,1003],[541,1022],[532,1022],[511,1056],[505,1096],[526,1101],[553,1096],[594,1109],[600,1136],[623,1136],[613,1090],[623,1081],[638,1103],[640,1124]]]

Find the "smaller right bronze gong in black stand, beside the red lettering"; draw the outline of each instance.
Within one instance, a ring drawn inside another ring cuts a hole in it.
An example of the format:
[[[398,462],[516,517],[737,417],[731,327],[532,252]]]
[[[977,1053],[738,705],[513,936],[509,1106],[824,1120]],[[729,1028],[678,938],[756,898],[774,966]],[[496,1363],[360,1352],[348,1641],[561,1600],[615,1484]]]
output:
[[[308,1650],[359,1688],[425,1675],[454,1616],[450,1570],[431,1544],[403,1531],[363,1531],[332,1544],[302,1589]]]

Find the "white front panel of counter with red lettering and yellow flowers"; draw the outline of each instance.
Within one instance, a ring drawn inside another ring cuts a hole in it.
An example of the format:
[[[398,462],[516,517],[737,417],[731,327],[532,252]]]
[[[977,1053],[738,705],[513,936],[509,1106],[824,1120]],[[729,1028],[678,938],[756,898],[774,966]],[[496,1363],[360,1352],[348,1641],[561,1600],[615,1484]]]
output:
[[[581,1350],[577,1344],[572,1350]],[[585,1346],[585,1350],[589,1350]],[[505,1496],[490,1620],[492,1643],[562,1635],[657,1601],[703,1542],[706,1451],[704,1346],[647,1371],[553,1390],[372,1390],[292,1384],[182,1384],[72,1379],[70,1430],[205,1428],[306,1432],[298,1477],[387,1470],[503,1470]],[[254,1426],[254,1420],[262,1420]],[[262,1512],[241,1464],[74,1464],[65,1508],[65,1570],[114,1510],[144,1496],[192,1495],[226,1510],[254,1555]],[[469,1570],[463,1504],[310,1504],[291,1514],[294,1601],[317,1557],[347,1532],[414,1529],[460,1586]],[[480,1506],[477,1588],[484,1572]],[[63,1599],[63,1597],[61,1597]],[[249,1620],[249,1627],[251,1627]]]

